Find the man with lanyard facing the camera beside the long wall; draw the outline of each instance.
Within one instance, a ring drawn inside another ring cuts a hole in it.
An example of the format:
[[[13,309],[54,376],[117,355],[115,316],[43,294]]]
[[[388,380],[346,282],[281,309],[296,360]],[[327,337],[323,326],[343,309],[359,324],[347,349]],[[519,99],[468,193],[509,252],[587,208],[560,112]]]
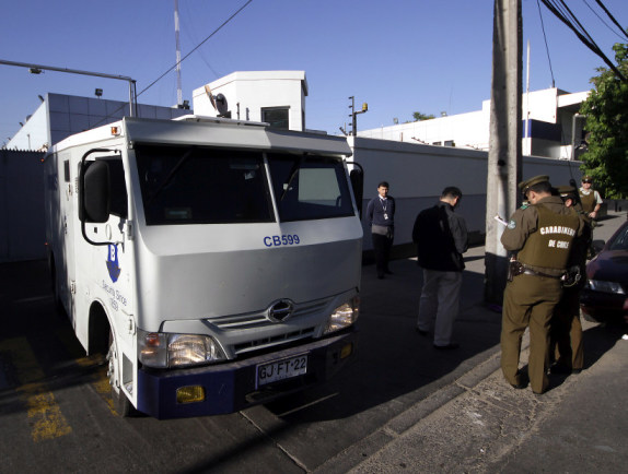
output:
[[[377,197],[367,205],[367,218],[371,225],[373,238],[373,252],[377,268],[377,279],[392,273],[388,269],[391,248],[395,234],[395,199],[388,195],[388,183],[382,181],[377,185]]]

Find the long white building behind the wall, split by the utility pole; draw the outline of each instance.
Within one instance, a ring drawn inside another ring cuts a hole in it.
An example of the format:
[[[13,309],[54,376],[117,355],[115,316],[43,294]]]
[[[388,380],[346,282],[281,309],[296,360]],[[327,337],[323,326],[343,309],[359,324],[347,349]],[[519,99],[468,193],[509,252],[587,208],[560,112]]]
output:
[[[571,94],[559,88],[524,94],[523,155],[577,158],[572,146],[583,139],[584,121],[578,110],[588,96],[589,92]],[[358,137],[488,151],[489,128],[490,100],[484,100],[481,110],[358,131]]]

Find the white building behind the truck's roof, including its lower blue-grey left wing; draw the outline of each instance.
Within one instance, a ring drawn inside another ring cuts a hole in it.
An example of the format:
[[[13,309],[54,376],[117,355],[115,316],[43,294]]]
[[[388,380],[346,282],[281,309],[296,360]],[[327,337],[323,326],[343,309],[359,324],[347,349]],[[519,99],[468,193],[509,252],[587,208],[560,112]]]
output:
[[[216,108],[209,94],[214,98]],[[194,111],[138,104],[137,116],[173,119],[194,112],[264,121],[279,129],[304,131],[306,96],[304,71],[239,71],[195,90]],[[127,102],[54,93],[40,98],[39,107],[26,118],[22,128],[7,143],[7,149],[46,150],[71,134],[129,115]]]

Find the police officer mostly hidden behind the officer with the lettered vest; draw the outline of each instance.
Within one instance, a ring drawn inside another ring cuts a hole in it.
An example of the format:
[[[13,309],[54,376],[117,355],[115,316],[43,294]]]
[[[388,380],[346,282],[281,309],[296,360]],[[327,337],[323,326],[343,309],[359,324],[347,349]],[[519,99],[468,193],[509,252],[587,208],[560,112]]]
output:
[[[568,268],[572,272],[563,285],[562,297],[550,322],[550,358],[553,374],[579,374],[584,364],[582,345],[582,323],[580,321],[580,291],[586,282],[586,252],[592,237],[592,228],[584,216],[578,200],[578,191],[572,186],[560,186],[558,192],[567,208],[574,209],[584,221],[583,233],[573,239]]]

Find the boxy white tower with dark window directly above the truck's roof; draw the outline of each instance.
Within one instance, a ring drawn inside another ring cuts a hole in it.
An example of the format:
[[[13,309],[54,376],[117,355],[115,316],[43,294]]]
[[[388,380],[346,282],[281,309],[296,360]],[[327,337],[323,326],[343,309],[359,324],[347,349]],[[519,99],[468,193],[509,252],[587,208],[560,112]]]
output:
[[[305,71],[237,71],[194,90],[193,108],[199,116],[222,115],[305,131],[306,96]]]

